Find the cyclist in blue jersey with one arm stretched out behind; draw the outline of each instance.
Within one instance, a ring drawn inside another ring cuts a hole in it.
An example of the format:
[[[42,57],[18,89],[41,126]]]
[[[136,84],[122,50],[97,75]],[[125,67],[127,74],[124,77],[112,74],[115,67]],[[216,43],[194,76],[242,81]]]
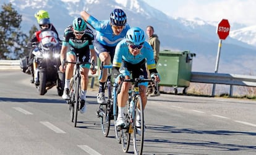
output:
[[[81,17],[89,23],[95,30],[95,40],[93,45],[97,56],[104,65],[113,62],[114,52],[117,43],[124,39],[130,26],[127,24],[126,14],[121,9],[114,9],[109,20],[97,20],[85,11],[80,12]],[[100,80],[100,88],[97,95],[98,103],[105,103],[105,83],[107,79],[107,69],[103,70]]]

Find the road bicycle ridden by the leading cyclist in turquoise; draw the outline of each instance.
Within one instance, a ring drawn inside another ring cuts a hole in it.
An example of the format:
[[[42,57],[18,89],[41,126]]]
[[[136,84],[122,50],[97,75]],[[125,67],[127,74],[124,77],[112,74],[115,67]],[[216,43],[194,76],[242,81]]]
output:
[[[143,110],[140,110],[139,112],[139,107],[140,109],[143,109],[142,98],[139,93],[139,83],[154,82],[154,80],[144,79],[144,78],[134,78],[134,79],[124,79],[123,82],[131,82],[133,83],[133,86],[131,86],[129,90],[129,98],[126,104],[127,112],[125,112],[125,116],[124,116],[125,126],[121,127],[122,150],[125,153],[127,153],[130,146],[130,135],[132,134],[134,154],[142,154],[145,125],[144,125]],[[137,115],[140,115],[140,125],[141,125],[140,127],[136,126]]]

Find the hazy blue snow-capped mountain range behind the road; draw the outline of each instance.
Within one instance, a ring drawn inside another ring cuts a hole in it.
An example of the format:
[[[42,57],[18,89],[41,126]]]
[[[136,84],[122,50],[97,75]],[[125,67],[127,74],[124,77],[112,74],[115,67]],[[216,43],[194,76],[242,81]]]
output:
[[[114,8],[121,8],[127,14],[131,27],[155,28],[161,41],[161,51],[190,51],[193,57],[192,71],[215,72],[219,38],[216,34],[217,22],[195,18],[188,20],[170,17],[143,0],[2,0],[0,4],[12,3],[12,7],[22,15],[22,31],[28,33],[32,25],[37,25],[34,14],[44,9],[49,12],[51,22],[60,35],[67,25],[86,10],[98,20],[109,19]],[[170,7],[171,9],[171,7]],[[246,27],[241,23],[231,23],[228,38],[222,41],[218,72],[251,75],[256,73],[256,25]]]

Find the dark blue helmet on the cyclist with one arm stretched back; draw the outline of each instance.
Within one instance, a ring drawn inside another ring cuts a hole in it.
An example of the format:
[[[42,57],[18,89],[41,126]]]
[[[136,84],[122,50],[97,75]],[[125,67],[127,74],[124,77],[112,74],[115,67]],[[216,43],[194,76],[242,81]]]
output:
[[[112,25],[124,26],[126,25],[126,13],[121,9],[114,9],[110,14],[110,22]]]

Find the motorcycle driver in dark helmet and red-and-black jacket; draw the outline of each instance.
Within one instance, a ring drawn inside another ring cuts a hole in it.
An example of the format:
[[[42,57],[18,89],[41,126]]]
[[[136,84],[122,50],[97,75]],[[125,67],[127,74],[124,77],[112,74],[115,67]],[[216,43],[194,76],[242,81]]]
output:
[[[55,31],[56,34],[58,34],[56,29],[53,28],[53,25],[51,25],[51,22],[49,19],[41,19],[39,21],[39,25],[40,25],[40,30],[36,31],[32,37],[32,40],[30,40],[31,46],[32,46],[32,44],[38,44],[41,41],[40,34],[42,31],[52,30],[52,31]],[[28,70],[32,74],[32,80],[30,80],[30,82],[31,83],[35,82],[35,84],[38,84],[39,82],[38,82],[37,74],[34,73],[34,70],[37,68],[37,64],[36,64],[36,62],[33,61],[33,54],[32,54],[33,50],[34,50],[34,48],[32,48],[32,50],[30,51],[30,54],[29,54]]]

